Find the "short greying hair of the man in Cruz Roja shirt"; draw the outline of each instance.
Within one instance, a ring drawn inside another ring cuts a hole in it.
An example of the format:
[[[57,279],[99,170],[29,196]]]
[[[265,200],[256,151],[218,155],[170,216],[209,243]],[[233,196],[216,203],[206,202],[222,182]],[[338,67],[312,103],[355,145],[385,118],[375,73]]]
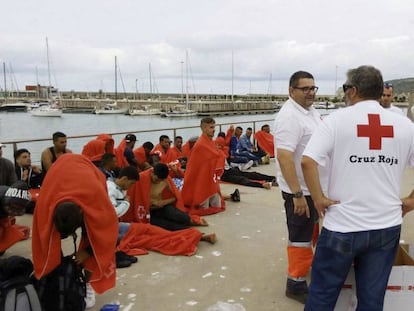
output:
[[[347,84],[355,86],[362,99],[379,99],[384,90],[381,71],[373,66],[360,66],[347,72]]]

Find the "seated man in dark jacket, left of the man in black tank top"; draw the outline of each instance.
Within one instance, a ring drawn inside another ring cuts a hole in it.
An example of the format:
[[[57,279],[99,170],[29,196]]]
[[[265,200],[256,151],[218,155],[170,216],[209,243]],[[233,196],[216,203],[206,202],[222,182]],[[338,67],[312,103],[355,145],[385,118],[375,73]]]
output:
[[[32,165],[30,152],[25,148],[17,149],[14,152],[14,163],[17,179],[27,184],[32,196],[32,200],[26,206],[26,213],[33,214],[43,181],[42,169],[40,166]]]

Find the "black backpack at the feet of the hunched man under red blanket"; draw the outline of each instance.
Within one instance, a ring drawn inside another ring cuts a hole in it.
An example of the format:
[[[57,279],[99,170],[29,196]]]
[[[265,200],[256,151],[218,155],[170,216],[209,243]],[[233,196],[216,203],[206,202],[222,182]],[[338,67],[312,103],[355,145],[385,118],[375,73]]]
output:
[[[73,236],[76,252],[76,235]],[[75,253],[63,256],[61,263],[34,284],[44,311],[84,311],[86,280],[82,268],[73,259]]]

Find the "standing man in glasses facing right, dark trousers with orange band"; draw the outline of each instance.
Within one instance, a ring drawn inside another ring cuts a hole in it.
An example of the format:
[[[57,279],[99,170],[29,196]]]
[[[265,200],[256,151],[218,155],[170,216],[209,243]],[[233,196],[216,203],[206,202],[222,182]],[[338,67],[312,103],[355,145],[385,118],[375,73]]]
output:
[[[289,99],[274,124],[276,171],[285,201],[289,233],[286,296],[305,303],[312,258],[312,237],[318,214],[303,179],[300,161],[313,131],[321,121],[312,107],[318,87],[313,76],[295,72],[289,81]]]

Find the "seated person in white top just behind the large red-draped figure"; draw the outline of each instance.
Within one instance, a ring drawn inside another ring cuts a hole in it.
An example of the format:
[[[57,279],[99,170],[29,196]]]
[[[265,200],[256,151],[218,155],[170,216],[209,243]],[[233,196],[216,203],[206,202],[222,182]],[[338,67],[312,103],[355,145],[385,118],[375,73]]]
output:
[[[108,188],[109,199],[115,213],[118,217],[122,217],[129,209],[129,197],[126,191],[139,179],[138,171],[133,166],[125,166],[119,171],[118,177],[106,180]],[[130,224],[125,222],[119,222],[118,224],[118,243],[125,236],[129,229]],[[136,263],[138,260],[133,256],[129,256],[126,253],[118,250],[115,253],[115,261],[117,268],[129,267],[131,264]]]

